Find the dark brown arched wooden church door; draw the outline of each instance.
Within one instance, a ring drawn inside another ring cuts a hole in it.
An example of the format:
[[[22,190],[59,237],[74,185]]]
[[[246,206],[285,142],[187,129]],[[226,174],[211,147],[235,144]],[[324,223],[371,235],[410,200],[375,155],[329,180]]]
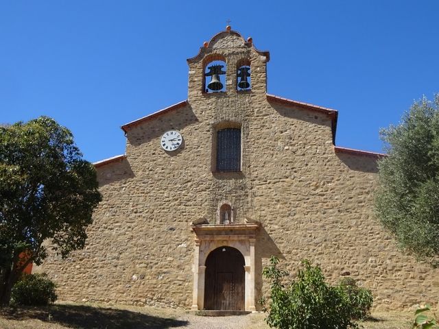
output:
[[[233,247],[219,247],[206,259],[204,308],[206,310],[244,310],[244,256]]]

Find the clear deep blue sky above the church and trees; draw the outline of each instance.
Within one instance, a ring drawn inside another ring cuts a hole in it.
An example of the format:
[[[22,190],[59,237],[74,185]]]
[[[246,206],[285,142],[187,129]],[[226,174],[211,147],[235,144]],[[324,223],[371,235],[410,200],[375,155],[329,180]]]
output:
[[[87,160],[123,154],[120,126],[187,99],[186,58],[226,26],[270,51],[268,93],[339,111],[336,145],[439,92],[439,1],[0,0],[0,123],[47,115]]]

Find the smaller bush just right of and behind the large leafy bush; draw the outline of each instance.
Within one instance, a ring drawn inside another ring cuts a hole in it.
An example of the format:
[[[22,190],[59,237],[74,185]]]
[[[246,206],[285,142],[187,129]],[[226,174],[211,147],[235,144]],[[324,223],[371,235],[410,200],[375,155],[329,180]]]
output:
[[[358,287],[353,278],[342,278],[337,289],[351,308],[353,319],[364,320],[370,315],[373,303],[372,291]]]

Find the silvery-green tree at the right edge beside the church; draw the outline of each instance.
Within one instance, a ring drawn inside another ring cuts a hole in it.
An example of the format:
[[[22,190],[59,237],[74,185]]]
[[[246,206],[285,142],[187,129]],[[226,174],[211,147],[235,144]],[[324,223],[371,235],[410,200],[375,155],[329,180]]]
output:
[[[399,246],[433,267],[439,256],[439,94],[416,101],[399,125],[381,131],[375,209]]]

